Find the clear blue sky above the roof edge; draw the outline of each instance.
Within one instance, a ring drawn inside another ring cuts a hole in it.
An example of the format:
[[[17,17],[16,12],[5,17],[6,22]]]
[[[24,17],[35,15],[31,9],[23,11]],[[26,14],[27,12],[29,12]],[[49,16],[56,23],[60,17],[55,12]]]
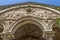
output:
[[[37,2],[42,4],[60,6],[60,0],[0,0],[0,6],[23,3],[23,2]]]

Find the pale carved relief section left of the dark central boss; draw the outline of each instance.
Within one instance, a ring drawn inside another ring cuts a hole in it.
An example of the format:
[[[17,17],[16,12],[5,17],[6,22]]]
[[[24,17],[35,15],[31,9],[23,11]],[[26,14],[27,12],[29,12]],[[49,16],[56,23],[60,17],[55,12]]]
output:
[[[6,14],[1,15],[1,17],[4,19],[18,19],[25,14],[26,14],[26,12],[23,9],[12,10],[10,12],[7,12]]]

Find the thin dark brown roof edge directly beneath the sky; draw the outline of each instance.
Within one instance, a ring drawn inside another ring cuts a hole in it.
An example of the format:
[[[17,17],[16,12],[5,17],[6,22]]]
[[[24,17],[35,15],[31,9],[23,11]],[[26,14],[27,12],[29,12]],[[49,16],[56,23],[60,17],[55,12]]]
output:
[[[46,7],[50,7],[50,8],[53,8],[53,9],[56,9],[56,7],[57,7],[57,6],[48,5],[48,4],[42,4],[42,3],[25,2],[25,3],[18,3],[18,4],[11,4],[11,5],[0,6],[0,10],[6,9],[6,8],[10,8],[10,7],[13,7],[13,6],[18,6],[18,5],[21,6],[21,5],[29,5],[29,4],[46,6]]]

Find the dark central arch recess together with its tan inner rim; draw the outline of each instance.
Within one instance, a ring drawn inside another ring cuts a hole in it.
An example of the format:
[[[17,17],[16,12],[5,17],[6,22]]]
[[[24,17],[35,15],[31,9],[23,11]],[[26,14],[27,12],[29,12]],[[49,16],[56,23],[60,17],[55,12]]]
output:
[[[14,40],[41,40],[43,38],[42,25],[30,19],[19,22],[13,31],[15,31]]]

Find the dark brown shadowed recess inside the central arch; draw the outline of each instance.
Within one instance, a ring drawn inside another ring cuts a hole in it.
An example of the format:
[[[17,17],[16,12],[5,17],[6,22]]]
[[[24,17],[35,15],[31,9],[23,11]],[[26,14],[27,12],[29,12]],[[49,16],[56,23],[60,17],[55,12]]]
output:
[[[32,23],[22,25],[15,32],[15,40],[41,40],[42,36],[40,28]]]

